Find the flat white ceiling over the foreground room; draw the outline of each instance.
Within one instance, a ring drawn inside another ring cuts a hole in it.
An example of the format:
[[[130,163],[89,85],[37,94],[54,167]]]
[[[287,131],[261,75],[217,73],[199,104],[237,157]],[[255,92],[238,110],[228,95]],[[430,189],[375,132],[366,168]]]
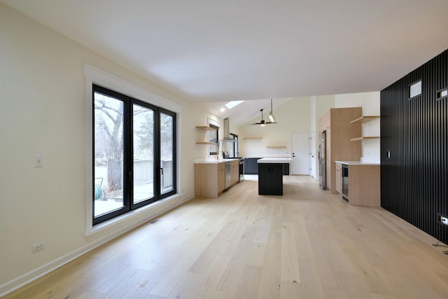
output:
[[[448,48],[447,0],[0,2],[211,110],[379,91]]]

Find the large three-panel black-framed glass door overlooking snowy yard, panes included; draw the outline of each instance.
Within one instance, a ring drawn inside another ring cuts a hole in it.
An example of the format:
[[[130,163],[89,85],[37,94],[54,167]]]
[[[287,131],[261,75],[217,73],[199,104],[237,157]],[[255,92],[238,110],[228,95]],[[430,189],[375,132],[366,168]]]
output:
[[[93,223],[176,193],[176,113],[94,85]]]

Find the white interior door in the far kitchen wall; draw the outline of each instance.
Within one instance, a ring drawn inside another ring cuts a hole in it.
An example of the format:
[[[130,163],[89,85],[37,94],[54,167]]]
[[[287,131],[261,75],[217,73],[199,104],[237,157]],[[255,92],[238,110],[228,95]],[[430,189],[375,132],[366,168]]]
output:
[[[309,133],[291,134],[293,174],[309,175]]]

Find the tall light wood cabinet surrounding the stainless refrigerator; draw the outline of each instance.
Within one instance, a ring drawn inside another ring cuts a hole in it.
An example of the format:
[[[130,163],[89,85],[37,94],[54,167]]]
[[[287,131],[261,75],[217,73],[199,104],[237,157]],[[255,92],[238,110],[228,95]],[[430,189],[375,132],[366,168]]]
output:
[[[350,123],[363,114],[361,107],[334,108],[328,110],[319,119],[319,132],[326,132],[327,188],[337,194],[335,160],[360,160],[362,147],[360,142],[350,139],[360,137],[361,123]]]

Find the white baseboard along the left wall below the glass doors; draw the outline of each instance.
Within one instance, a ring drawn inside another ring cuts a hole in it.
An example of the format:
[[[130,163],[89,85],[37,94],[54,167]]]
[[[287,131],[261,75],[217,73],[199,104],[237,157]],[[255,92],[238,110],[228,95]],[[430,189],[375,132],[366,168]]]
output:
[[[133,228],[136,228],[137,226],[145,223],[146,221],[151,220],[152,218],[159,216],[160,214],[165,213],[166,211],[169,211],[170,209],[174,209],[175,207],[179,206],[180,204],[183,204],[184,202],[188,202],[188,200],[191,200],[194,198],[194,195],[187,196],[185,198],[175,198],[173,200],[167,200],[166,202],[162,202],[162,204],[165,204],[165,207],[154,207],[153,209],[148,209],[146,212],[144,218],[137,218],[136,221],[131,222],[127,224],[126,226],[119,227],[117,230],[115,230],[113,233],[106,235],[104,237],[100,237],[99,239],[95,239],[94,241],[90,242],[89,244],[86,244],[85,246],[81,246],[78,249],[75,249],[69,253],[64,254],[64,256],[60,256],[59,258],[56,258],[55,260],[50,261],[49,263],[46,263],[45,265],[41,265],[40,267],[37,267],[34,270],[31,270],[25,274],[20,275],[19,277],[16,277],[15,279],[12,279],[10,281],[7,281],[4,284],[0,285],[0,298],[4,295],[11,293],[18,288],[21,288],[22,286],[25,286],[32,281],[35,281],[38,278],[43,277],[45,274],[48,274],[54,270],[56,270],[59,267],[62,267],[63,265],[66,265],[67,263],[70,263],[72,260],[83,256],[85,253],[88,253],[89,251],[92,251],[93,249],[97,248],[98,246],[101,246],[102,244],[111,241],[111,239],[114,239],[120,235],[123,235],[125,232],[128,232],[132,230]],[[119,223],[117,223],[119,225]]]

